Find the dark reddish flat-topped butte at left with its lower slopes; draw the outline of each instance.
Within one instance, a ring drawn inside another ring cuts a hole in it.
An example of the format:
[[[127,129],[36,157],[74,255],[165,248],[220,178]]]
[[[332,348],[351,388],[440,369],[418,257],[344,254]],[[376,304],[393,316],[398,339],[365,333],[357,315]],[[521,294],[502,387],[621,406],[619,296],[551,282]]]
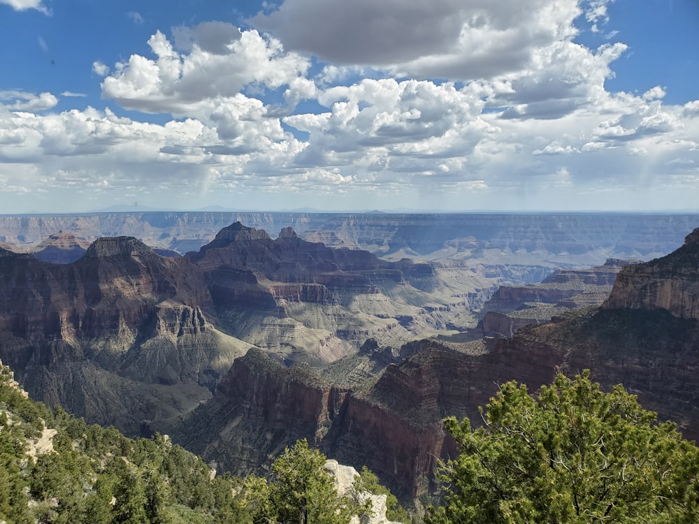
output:
[[[79,261],[0,256],[0,357],[27,391],[91,422],[138,433],[210,398],[249,346],[208,323],[203,273],[134,238],[94,242]]]

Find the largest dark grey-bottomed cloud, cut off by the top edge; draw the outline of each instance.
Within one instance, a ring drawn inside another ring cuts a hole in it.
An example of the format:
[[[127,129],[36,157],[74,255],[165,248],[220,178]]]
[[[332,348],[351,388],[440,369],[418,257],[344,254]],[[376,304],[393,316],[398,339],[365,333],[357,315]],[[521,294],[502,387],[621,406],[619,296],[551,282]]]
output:
[[[365,64],[415,78],[474,80],[526,68],[573,20],[606,16],[607,0],[285,0],[251,23],[289,50],[333,64]],[[583,10],[584,8],[584,10]]]

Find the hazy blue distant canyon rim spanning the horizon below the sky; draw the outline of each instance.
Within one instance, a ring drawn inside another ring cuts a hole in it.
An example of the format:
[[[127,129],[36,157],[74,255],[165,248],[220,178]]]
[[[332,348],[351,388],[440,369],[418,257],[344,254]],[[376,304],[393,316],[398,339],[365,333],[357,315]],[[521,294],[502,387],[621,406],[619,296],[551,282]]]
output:
[[[605,259],[649,260],[682,242],[698,214],[391,214],[288,212],[124,212],[0,216],[0,242],[37,245],[58,231],[87,240],[134,236],[184,254],[240,221],[274,235],[282,228],[328,247],[382,258],[463,259],[502,270],[512,263],[584,268]],[[510,281],[526,284],[526,281]],[[530,280],[531,282],[531,280]]]

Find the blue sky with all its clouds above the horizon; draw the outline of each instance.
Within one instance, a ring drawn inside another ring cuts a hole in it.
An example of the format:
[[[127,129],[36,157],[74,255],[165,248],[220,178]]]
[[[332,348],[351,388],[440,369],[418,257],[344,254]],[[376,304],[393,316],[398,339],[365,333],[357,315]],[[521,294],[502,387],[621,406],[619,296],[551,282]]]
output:
[[[0,214],[699,211],[697,0],[0,0]]]

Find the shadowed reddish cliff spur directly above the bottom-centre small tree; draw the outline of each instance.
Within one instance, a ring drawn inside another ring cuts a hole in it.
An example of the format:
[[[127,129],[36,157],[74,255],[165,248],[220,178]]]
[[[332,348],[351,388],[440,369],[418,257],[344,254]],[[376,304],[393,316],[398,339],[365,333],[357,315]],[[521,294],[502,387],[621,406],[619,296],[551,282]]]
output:
[[[152,429],[224,470],[247,474],[268,467],[297,439],[319,446],[345,411],[348,393],[308,367],[285,367],[251,349],[233,363],[212,400]]]

